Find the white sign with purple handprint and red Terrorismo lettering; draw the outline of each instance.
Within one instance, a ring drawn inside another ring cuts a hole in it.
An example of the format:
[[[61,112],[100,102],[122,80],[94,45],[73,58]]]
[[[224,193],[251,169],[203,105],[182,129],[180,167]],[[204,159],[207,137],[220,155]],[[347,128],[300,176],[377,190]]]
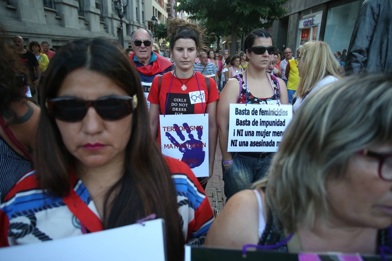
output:
[[[162,154],[187,164],[196,177],[209,175],[208,113],[160,115]]]

